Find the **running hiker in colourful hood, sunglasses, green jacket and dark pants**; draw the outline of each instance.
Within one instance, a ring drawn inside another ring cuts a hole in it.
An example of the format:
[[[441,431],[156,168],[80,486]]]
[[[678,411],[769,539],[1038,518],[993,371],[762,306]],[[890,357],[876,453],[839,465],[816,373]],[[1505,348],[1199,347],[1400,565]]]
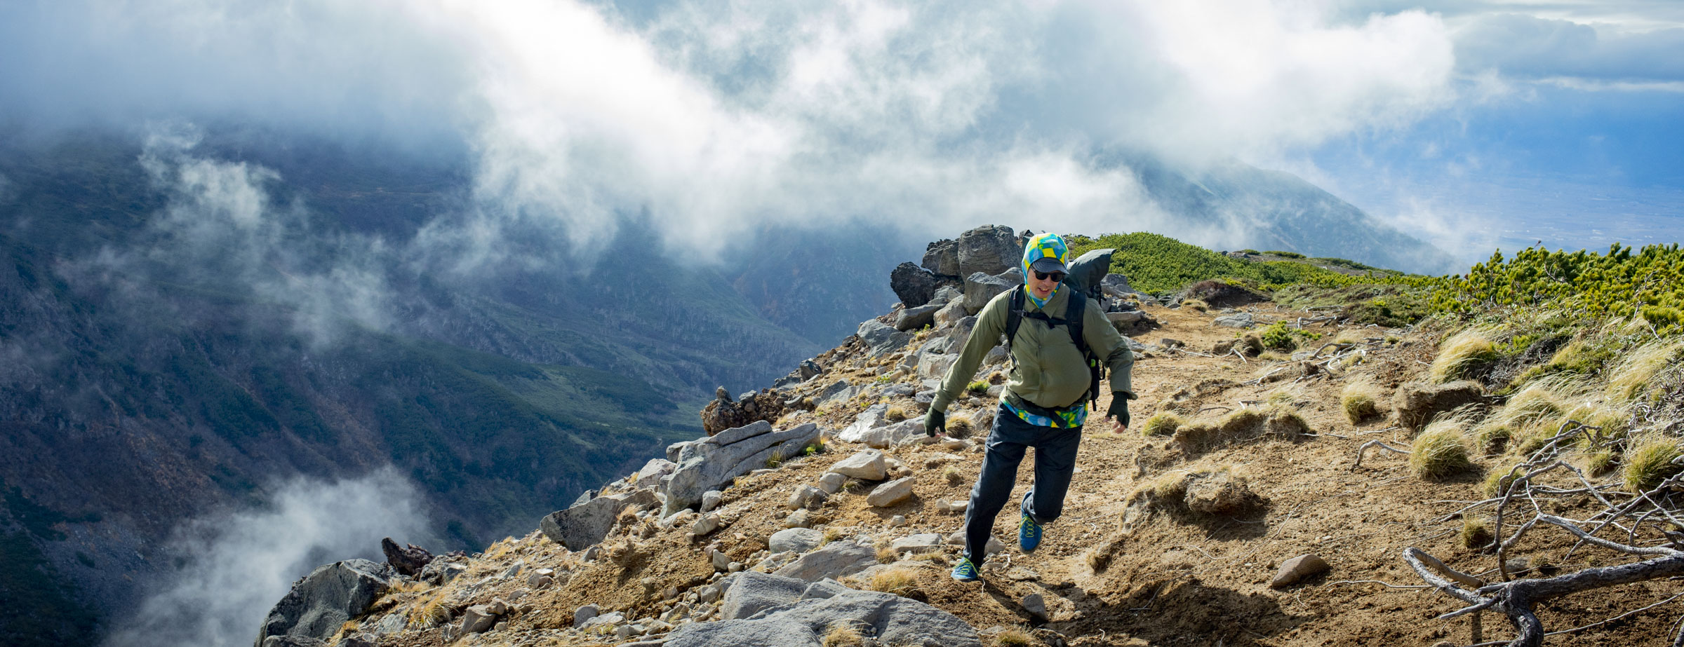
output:
[[[946,432],[946,408],[963,392],[982,358],[1007,336],[1010,375],[1000,393],[1000,410],[989,430],[987,454],[982,474],[970,489],[970,506],[965,509],[965,555],[953,566],[953,578],[973,581],[987,556],[989,534],[995,516],[1005,508],[1017,481],[1017,464],[1024,450],[1036,449],[1036,479],[1024,492],[1022,519],[1017,524],[1017,544],[1031,553],[1041,544],[1042,526],[1064,511],[1064,491],[1076,469],[1076,445],[1081,444],[1081,425],[1088,418],[1088,403],[1098,398],[1100,368],[1111,371],[1111,430],[1128,429],[1128,400],[1135,397],[1130,387],[1133,353],[1123,336],[1111,328],[1105,309],[1088,302],[1081,291],[1064,286],[1069,272],[1064,266],[1069,250],[1058,234],[1039,234],[1024,245],[1024,286],[1005,291],[989,301],[977,318],[958,361],[941,378],[941,388],[930,413],[925,417],[925,434]],[[1079,319],[1066,316],[1079,311]],[[1086,353],[1076,343],[1076,331]],[[1084,356],[1086,355],[1086,356]]]

